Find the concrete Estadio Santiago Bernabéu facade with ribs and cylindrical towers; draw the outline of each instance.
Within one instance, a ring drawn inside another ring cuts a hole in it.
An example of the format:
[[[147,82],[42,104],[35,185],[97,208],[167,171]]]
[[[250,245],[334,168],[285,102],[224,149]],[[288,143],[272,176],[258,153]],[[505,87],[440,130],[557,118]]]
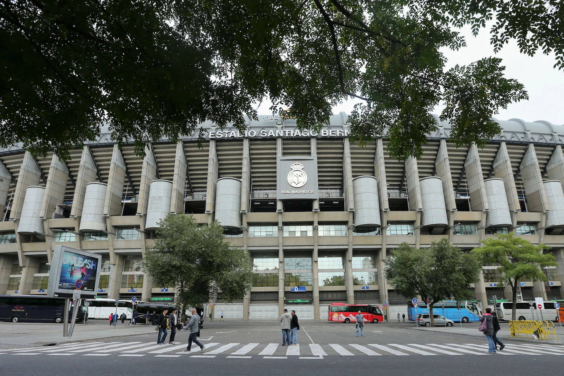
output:
[[[503,132],[484,148],[456,148],[439,122],[422,157],[405,162],[390,158],[386,139],[349,143],[345,113],[319,132],[276,116],[245,132],[205,123],[201,148],[198,134],[159,140],[144,158],[108,133],[67,162],[3,149],[0,294],[46,294],[52,251],[63,244],[103,256],[100,297],[170,300],[174,286],[152,285],[143,253],[158,220],[192,213],[201,224],[219,220],[255,264],[250,293],[232,304],[219,294],[216,315],[269,319],[293,307],[302,319],[327,320],[329,303],[386,300],[395,316],[406,299],[382,272],[391,249],[448,238],[470,250],[504,232],[552,246],[559,265],[545,269],[546,283],[521,281],[522,299],[561,299],[564,126],[499,123]],[[510,299],[500,277],[483,267],[482,306],[492,295]]]

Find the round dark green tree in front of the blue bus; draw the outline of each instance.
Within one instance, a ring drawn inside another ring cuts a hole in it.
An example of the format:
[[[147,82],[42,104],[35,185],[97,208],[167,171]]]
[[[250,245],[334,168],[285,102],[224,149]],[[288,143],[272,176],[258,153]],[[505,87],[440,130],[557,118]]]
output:
[[[441,300],[473,297],[471,285],[478,281],[480,271],[475,255],[462,252],[447,239],[418,249],[402,243],[391,251],[384,270],[396,293],[404,298],[429,299],[430,313],[434,304]],[[431,326],[435,326],[433,315],[429,317]]]

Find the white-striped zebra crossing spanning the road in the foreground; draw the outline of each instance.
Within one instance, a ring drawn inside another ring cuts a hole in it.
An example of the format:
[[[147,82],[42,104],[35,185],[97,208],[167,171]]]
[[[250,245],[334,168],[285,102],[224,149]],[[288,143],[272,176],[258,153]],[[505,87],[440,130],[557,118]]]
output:
[[[185,352],[186,343],[157,345],[155,342],[90,342],[69,343],[59,346],[38,346],[0,350],[0,356],[120,356],[120,357],[195,357],[228,359],[324,359],[327,356],[464,356],[486,355],[486,343],[301,343],[280,346],[279,343],[219,343],[205,344],[205,350],[193,346]],[[510,343],[499,355],[564,355],[564,346],[548,344]]]

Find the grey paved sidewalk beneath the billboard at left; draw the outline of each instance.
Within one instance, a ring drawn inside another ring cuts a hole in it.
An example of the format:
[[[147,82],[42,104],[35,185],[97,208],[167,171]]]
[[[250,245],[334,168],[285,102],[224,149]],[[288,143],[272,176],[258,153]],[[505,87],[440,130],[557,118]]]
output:
[[[70,325],[69,325],[70,329]],[[129,337],[139,334],[155,334],[155,326],[77,324],[72,337],[63,337],[62,324],[12,324],[0,323],[0,349],[20,346],[42,346],[69,342],[86,342],[108,337]],[[156,338],[156,337],[155,337]]]

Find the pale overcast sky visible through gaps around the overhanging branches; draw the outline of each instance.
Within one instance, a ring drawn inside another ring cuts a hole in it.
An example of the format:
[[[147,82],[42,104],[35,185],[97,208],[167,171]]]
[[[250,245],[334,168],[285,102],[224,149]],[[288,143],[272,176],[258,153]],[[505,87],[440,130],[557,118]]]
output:
[[[472,36],[470,28],[463,29],[462,34],[468,46],[459,51],[443,50],[448,57],[447,68],[456,64],[466,65],[486,56],[500,57],[506,67],[506,77],[523,83],[529,100],[510,104],[507,109],[500,109],[499,114],[493,117],[499,120],[520,118],[528,122],[545,120],[564,125],[564,69],[553,68],[556,61],[554,54],[544,55],[537,52],[532,57],[521,54],[517,43],[511,41],[499,54],[494,55],[489,29],[482,29],[476,38]],[[333,109],[334,113],[350,113],[355,103],[358,103],[358,100],[349,100],[337,105]],[[261,104],[259,114],[269,113],[268,107],[270,101],[266,100]],[[442,107],[437,107],[433,112],[439,114],[441,110]]]

